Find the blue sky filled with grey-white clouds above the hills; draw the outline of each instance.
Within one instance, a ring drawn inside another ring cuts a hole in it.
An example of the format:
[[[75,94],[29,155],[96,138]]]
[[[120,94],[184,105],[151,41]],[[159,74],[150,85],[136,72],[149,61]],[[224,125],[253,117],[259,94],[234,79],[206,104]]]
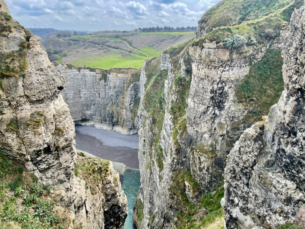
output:
[[[128,30],[152,26],[196,26],[219,0],[5,0],[25,27]]]

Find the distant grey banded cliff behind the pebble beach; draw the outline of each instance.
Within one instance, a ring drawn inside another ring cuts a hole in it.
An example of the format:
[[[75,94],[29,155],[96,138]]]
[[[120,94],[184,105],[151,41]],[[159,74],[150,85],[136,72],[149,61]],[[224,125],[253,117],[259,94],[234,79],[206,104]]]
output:
[[[138,132],[140,70],[56,67],[66,78],[62,94],[75,123],[127,135]]]

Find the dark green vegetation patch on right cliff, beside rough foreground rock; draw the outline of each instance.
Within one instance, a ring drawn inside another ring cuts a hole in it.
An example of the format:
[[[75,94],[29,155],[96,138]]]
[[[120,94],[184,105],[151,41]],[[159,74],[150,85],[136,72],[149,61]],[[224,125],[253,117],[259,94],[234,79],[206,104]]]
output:
[[[268,50],[260,61],[250,66],[249,74],[236,87],[239,102],[252,108],[246,115],[251,122],[267,115],[278,102],[284,89],[282,65],[281,50]]]

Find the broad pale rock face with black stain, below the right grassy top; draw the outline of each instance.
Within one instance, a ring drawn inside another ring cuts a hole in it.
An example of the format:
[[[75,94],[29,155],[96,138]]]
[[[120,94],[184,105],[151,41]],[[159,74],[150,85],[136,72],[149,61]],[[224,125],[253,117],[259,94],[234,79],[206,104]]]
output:
[[[206,151],[215,154],[212,159],[200,151],[190,155],[192,176],[203,190],[209,191],[221,179],[227,154],[249,127],[241,122],[249,110],[238,102],[236,86],[268,49],[281,48],[285,34],[283,29],[274,41],[237,52],[209,41],[190,47],[193,74],[186,110],[189,144],[195,148],[203,144]]]

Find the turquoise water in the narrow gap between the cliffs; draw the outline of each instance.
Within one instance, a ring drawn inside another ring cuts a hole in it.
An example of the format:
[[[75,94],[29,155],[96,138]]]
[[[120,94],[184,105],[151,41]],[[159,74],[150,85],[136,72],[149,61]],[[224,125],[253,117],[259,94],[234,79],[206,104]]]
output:
[[[140,170],[125,169],[124,176],[120,176],[120,180],[128,201],[128,216],[124,229],[135,229],[132,225],[133,206],[135,205],[137,192],[140,187]]]

